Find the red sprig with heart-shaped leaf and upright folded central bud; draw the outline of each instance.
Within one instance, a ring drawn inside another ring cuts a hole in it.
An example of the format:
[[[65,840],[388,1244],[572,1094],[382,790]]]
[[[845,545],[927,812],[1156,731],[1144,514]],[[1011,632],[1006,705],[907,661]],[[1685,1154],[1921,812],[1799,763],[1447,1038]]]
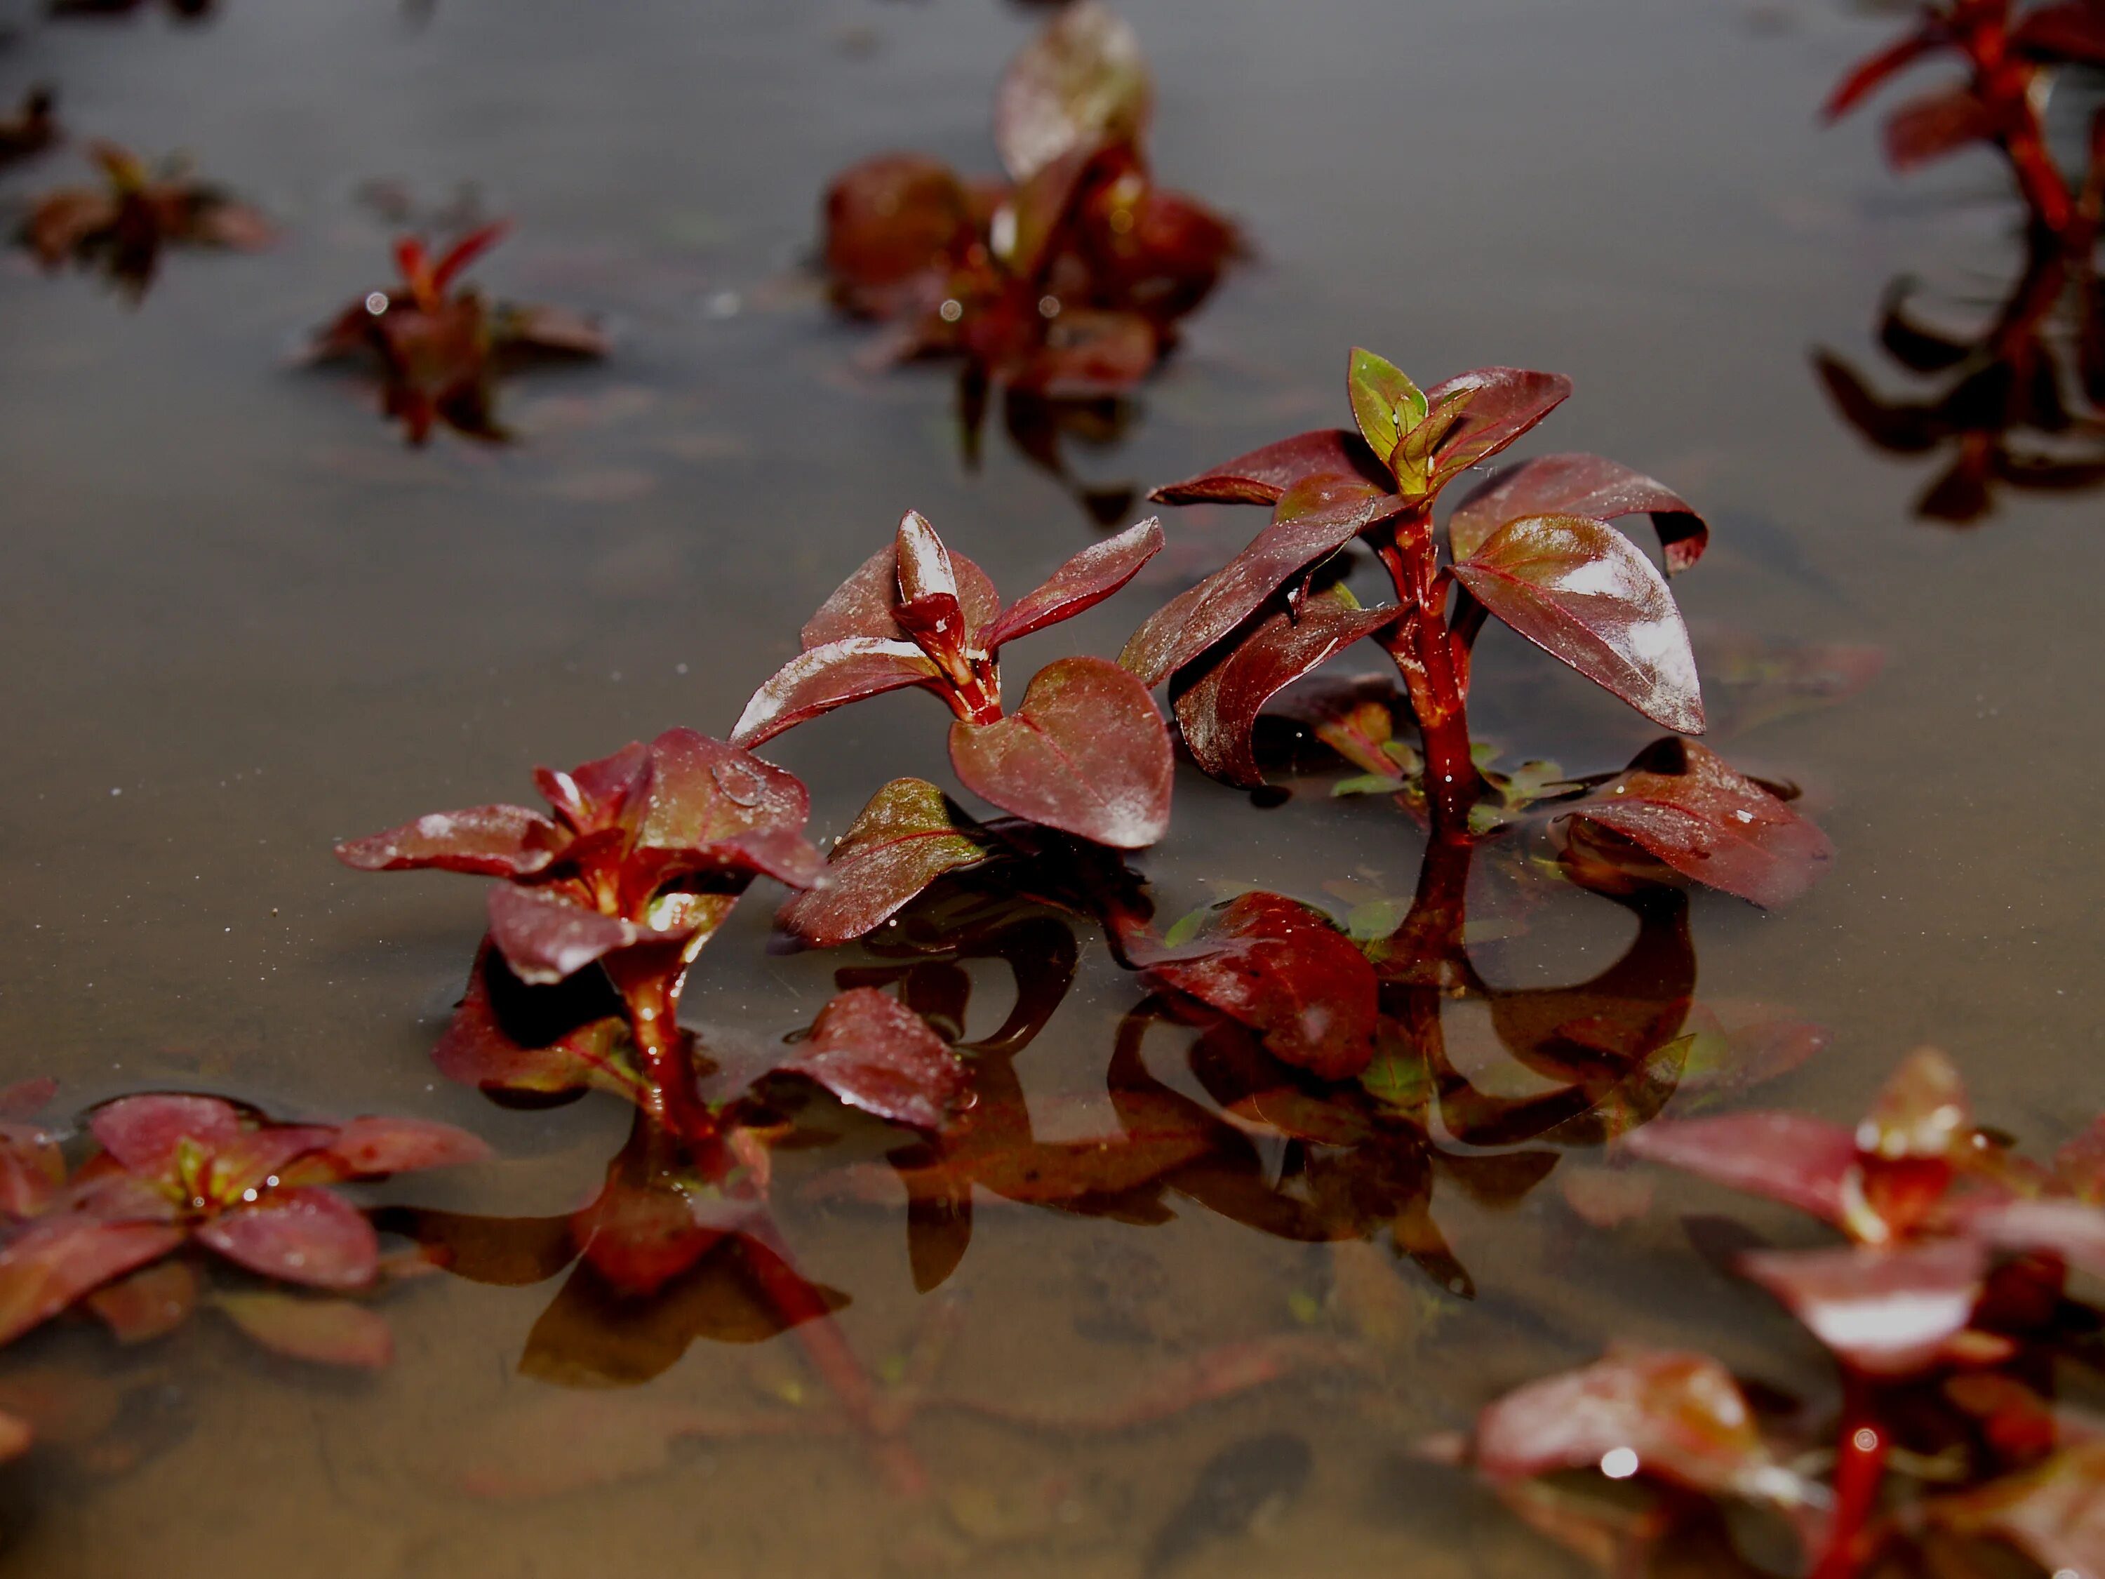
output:
[[[1042,827],[1137,851],[1170,815],[1170,743],[1147,688],[1095,657],[1057,659],[1002,707],[1000,651],[1118,592],[1162,547],[1145,520],[1095,543],[1002,608],[985,571],[916,512],[804,625],[804,651],[745,703],[733,741],[758,745],[863,697],[935,691],[956,722],[958,779]]]

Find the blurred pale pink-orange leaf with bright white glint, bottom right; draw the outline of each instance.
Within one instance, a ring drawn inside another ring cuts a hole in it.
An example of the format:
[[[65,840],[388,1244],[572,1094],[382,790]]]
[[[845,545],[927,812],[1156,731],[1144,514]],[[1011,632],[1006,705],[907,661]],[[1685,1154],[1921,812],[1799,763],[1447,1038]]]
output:
[[[1608,1459],[1623,1453],[1636,1461]],[[1762,1444],[1732,1373],[1665,1350],[1610,1352],[1507,1394],[1478,1417],[1476,1461],[1492,1480],[1606,1467],[1737,1497],[1798,1491]]]

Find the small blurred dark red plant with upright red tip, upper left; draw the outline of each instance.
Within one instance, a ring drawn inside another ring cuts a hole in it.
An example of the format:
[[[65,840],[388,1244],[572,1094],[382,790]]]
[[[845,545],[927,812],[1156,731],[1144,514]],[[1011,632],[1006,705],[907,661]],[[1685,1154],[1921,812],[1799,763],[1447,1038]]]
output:
[[[314,337],[307,358],[377,360],[385,413],[402,421],[410,444],[423,444],[440,421],[469,438],[503,440],[497,377],[507,364],[606,356],[606,337],[585,318],[558,307],[490,303],[474,286],[457,284],[505,229],[482,225],[436,259],[419,238],[404,236],[396,242],[400,280],[345,307]]]

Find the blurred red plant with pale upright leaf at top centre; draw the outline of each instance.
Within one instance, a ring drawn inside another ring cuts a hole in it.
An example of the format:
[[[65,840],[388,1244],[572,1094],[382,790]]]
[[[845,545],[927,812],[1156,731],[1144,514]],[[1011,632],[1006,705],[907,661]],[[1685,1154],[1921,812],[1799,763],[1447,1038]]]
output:
[[[825,272],[842,309],[893,324],[884,360],[962,358],[966,457],[987,392],[1034,463],[1069,482],[1061,434],[1116,436],[1116,398],[1177,341],[1236,229],[1156,185],[1141,137],[1154,91],[1132,29],[1086,0],[1002,78],[994,137],[1015,185],[886,154],[825,196]],[[1126,491],[1080,488],[1109,524]]]

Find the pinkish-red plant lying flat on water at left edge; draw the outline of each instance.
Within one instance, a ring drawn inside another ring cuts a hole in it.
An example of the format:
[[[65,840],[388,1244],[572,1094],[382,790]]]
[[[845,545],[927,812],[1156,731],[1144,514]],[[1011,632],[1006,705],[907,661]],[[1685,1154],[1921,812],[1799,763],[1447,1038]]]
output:
[[[156,1337],[198,1303],[183,1246],[261,1278],[330,1295],[385,1274],[366,1215],[326,1185],[478,1162],[482,1141],[415,1118],[276,1124],[219,1097],[122,1097],[95,1110],[99,1147],[67,1173],[61,1137],[0,1133],[0,1343],[78,1303],[126,1341]],[[385,1322],[343,1301],[229,1291],[215,1303],[272,1347],[383,1364]]]

